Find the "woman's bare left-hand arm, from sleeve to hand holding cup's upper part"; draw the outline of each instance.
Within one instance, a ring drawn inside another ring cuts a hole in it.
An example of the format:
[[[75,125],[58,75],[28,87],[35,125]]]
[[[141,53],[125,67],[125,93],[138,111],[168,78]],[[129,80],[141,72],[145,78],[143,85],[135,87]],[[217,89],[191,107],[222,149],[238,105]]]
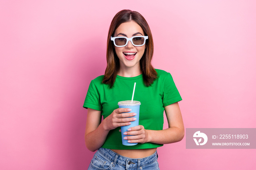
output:
[[[129,111],[131,111],[131,109],[115,109],[101,122],[101,111],[88,108],[84,135],[86,147],[90,151],[96,151],[104,144],[110,130],[131,124],[131,121],[134,120],[132,120],[133,118],[128,117],[135,116],[134,114],[136,113],[123,113]]]

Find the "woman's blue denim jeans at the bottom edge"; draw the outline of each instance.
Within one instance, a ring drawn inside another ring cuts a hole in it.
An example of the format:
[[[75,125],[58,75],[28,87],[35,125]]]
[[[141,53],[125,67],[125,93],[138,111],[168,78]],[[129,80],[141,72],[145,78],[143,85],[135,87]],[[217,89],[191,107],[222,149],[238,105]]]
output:
[[[110,149],[99,148],[88,170],[159,170],[157,158],[157,151],[146,158],[132,159]]]

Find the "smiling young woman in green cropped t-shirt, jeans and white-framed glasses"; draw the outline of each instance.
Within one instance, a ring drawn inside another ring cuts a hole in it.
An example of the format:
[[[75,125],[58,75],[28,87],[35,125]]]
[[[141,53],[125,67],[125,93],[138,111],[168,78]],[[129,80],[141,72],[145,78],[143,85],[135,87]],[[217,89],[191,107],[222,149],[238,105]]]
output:
[[[159,169],[157,147],[184,137],[184,125],[178,101],[182,100],[170,73],[154,69],[153,39],[140,13],[118,12],[109,28],[105,74],[91,81],[84,108],[88,108],[85,143],[90,151],[98,150],[89,169]],[[122,144],[120,127],[131,124],[136,113],[118,108],[119,101],[140,101],[139,125],[125,135]],[[163,130],[165,110],[169,128]],[[101,117],[103,116],[103,121]]]

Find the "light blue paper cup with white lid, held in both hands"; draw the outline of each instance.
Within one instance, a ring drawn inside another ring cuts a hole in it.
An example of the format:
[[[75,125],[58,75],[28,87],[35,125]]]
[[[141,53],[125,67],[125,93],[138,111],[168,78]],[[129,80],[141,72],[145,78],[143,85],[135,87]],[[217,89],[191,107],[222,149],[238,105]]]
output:
[[[128,143],[128,140],[125,140],[125,136],[131,136],[131,135],[124,135],[124,132],[127,132],[129,128],[138,126],[139,125],[139,115],[140,115],[140,102],[139,101],[131,101],[131,100],[125,100],[125,101],[119,101],[118,102],[119,108],[129,108],[132,109],[130,112],[126,113],[137,113],[137,115],[133,116],[137,118],[135,121],[131,121],[131,124],[128,126],[121,126],[121,134],[122,134],[122,143],[126,146],[132,146],[136,145],[138,143]]]

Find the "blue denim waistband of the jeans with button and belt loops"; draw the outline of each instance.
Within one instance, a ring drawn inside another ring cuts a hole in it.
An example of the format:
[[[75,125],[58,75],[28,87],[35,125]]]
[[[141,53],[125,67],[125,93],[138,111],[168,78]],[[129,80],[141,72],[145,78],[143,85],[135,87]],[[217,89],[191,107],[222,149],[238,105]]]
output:
[[[104,155],[106,158],[108,158],[110,161],[113,162],[113,166],[115,166],[116,163],[124,166],[129,166],[130,168],[134,165],[134,167],[137,166],[146,166],[150,163],[153,163],[157,160],[158,155],[157,151],[155,151],[154,154],[145,157],[145,158],[139,158],[139,159],[134,159],[134,158],[128,158],[121,156],[117,154],[116,152],[106,149],[106,148],[99,148],[98,151]]]

